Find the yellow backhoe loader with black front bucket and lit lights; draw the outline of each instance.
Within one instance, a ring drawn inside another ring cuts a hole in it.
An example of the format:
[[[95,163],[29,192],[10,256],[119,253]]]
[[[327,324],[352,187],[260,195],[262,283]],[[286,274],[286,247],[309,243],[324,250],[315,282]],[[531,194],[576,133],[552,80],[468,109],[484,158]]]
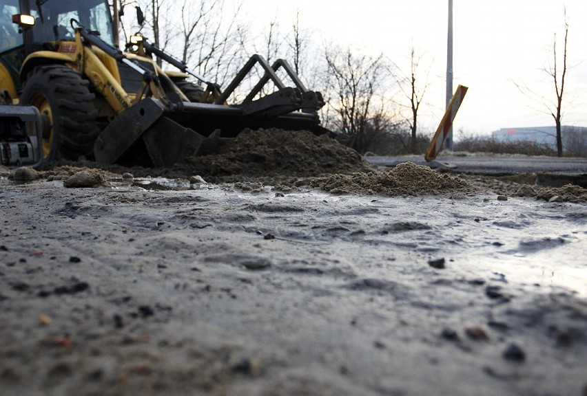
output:
[[[269,65],[254,55],[223,90],[141,36],[132,51],[117,49],[107,0],[2,0],[0,33],[0,94],[13,105],[0,106],[0,118],[19,118],[4,122],[5,134],[23,122],[41,131],[30,128],[21,139],[32,153],[21,159],[12,153],[11,164],[83,156],[102,164],[171,166],[245,129],[327,132],[318,117],[322,96],[306,89],[286,61]],[[154,56],[179,70],[164,71]],[[245,100],[228,104],[254,67],[263,77]],[[293,86],[278,77],[280,68]],[[264,94],[269,82],[275,89]],[[31,106],[38,120],[29,115]],[[0,143],[7,139],[0,135]]]

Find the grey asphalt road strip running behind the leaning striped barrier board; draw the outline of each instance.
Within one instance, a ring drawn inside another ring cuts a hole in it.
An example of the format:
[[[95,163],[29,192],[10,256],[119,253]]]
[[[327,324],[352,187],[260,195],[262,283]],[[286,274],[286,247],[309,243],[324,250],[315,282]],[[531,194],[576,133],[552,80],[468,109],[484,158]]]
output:
[[[441,155],[426,162],[424,155],[398,157],[367,156],[365,159],[378,166],[395,166],[402,162],[440,168],[452,173],[468,175],[507,176],[535,173],[538,184],[562,186],[566,183],[587,188],[587,159],[558,157],[528,157],[502,155]]]

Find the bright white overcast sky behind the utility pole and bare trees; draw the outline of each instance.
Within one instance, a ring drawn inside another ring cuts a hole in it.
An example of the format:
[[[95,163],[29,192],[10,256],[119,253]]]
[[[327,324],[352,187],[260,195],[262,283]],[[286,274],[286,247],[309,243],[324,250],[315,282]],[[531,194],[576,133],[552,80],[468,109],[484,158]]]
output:
[[[413,43],[429,62],[423,72],[433,83],[424,98],[430,105],[422,114],[422,126],[436,128],[446,96],[448,0],[243,3],[245,18],[254,29],[267,28],[274,18],[283,30],[291,29],[299,10],[302,28],[311,32],[318,47],[327,41],[352,45],[364,52],[383,53],[406,69]],[[562,45],[565,7],[569,69],[563,123],[587,126],[587,0],[453,0],[453,87],[469,87],[455,131],[490,133],[553,124],[540,101],[521,94],[511,80],[553,100],[553,80],[544,67],[552,64],[555,33]]]

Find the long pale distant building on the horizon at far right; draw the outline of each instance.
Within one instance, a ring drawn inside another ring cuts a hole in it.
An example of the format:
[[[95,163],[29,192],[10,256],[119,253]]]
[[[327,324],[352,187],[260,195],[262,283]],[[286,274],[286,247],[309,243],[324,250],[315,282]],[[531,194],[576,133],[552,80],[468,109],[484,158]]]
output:
[[[500,142],[519,142],[526,140],[537,144],[548,145],[554,150],[557,148],[556,126],[502,128],[499,131],[493,131],[491,136]],[[577,137],[587,137],[587,128],[583,126],[563,125],[561,126],[561,136],[564,148],[568,148],[569,144],[576,144],[575,140]]]

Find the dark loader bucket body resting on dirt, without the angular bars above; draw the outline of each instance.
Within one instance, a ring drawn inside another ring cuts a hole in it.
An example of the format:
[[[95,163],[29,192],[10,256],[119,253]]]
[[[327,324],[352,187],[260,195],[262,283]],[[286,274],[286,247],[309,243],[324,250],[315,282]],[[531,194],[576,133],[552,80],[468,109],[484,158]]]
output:
[[[167,107],[146,98],[121,113],[97,138],[96,162],[169,167],[185,157],[214,153],[218,142],[245,129],[327,132],[310,113],[267,118],[221,104],[176,102],[173,109]]]

